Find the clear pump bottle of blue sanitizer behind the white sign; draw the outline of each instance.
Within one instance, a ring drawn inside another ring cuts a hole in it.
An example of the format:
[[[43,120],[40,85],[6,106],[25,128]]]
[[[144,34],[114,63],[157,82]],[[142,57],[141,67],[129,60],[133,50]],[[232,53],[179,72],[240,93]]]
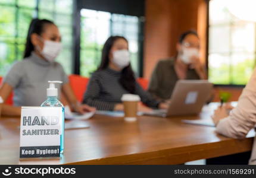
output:
[[[60,137],[60,152],[64,151],[64,106],[61,101],[58,100],[58,89],[55,88],[55,84],[61,84],[62,81],[48,81],[49,88],[47,88],[47,100],[45,100],[42,107],[62,107],[63,116],[61,119],[61,137]]]

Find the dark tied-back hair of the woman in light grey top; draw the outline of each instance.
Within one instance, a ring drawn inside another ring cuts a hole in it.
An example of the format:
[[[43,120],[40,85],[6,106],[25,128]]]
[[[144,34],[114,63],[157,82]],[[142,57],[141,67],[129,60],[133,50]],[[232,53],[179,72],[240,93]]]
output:
[[[46,19],[34,18],[29,25],[29,32],[27,33],[27,42],[24,51],[24,58],[27,58],[31,55],[31,52],[34,50],[34,46],[31,42],[31,35],[36,33],[38,35],[43,33],[46,24],[54,24],[52,21]]]

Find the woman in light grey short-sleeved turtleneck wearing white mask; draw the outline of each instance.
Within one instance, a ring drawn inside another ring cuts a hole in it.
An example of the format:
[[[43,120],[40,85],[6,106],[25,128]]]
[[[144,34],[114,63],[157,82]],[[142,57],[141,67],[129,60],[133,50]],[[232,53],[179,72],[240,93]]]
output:
[[[61,50],[58,27],[49,20],[30,23],[23,61],[15,62],[0,90],[3,100],[14,90],[14,106],[2,105],[2,115],[20,116],[20,106],[40,106],[46,100],[49,80],[63,81],[61,87],[68,104],[79,113],[95,110],[80,105],[68,84],[68,77],[55,58]]]

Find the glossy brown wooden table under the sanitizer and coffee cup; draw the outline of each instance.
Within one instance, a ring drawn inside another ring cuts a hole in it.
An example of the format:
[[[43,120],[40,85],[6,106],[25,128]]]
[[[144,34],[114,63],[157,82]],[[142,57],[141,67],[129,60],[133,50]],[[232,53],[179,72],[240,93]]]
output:
[[[88,129],[65,131],[61,158],[19,159],[19,118],[0,119],[0,164],[180,164],[202,158],[251,150],[250,132],[245,139],[216,134],[209,126],[189,125],[181,119],[140,116],[137,122],[120,117],[96,115],[87,120]]]

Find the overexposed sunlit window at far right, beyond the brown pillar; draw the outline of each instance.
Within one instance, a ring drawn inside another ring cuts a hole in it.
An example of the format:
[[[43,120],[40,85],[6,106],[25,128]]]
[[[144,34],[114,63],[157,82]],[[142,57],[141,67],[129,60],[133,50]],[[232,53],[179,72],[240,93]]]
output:
[[[252,17],[249,9],[244,7],[247,2],[210,1],[208,67],[209,80],[214,84],[245,85],[252,74],[256,23],[245,18],[246,14]],[[255,7],[255,1],[250,3]]]

